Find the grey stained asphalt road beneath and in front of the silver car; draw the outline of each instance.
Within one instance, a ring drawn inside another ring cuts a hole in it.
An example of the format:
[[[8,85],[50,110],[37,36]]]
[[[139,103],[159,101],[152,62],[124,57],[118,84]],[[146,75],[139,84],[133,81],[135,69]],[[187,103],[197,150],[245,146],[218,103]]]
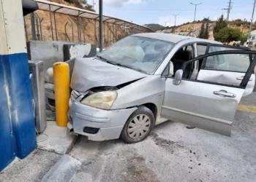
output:
[[[241,104],[256,106],[255,98],[256,92]],[[253,109],[236,112],[231,137],[165,122],[135,144],[81,138],[70,153],[83,162],[72,181],[255,181]]]

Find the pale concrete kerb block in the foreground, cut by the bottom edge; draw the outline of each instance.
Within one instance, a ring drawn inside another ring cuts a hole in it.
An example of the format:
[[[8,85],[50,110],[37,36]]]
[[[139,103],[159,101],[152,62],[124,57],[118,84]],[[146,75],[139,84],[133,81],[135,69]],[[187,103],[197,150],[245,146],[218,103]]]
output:
[[[42,178],[42,182],[69,182],[72,176],[77,172],[81,166],[81,162],[69,155],[63,155],[48,173]]]

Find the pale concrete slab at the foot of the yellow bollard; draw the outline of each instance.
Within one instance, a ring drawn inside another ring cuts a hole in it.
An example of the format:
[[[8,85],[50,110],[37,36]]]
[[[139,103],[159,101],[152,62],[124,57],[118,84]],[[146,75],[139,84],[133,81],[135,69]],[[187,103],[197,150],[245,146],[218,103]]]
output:
[[[42,135],[43,139],[37,137],[37,140],[41,141],[37,143],[38,149],[54,151],[57,154],[68,154],[75,142],[78,141],[77,135],[69,135],[67,127],[58,127],[55,121],[48,121],[42,134],[45,134],[48,138],[42,141],[45,136]]]

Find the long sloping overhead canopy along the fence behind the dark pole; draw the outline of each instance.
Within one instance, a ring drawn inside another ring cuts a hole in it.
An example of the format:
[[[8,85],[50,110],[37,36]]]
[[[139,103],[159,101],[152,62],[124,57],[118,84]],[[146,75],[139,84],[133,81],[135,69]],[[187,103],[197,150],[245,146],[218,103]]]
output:
[[[99,19],[99,14],[97,12],[91,12],[86,9],[80,9],[77,7],[69,7],[64,4],[58,4],[58,3],[45,1],[45,0],[34,0],[34,1],[37,2],[39,9],[44,11],[51,11],[51,12],[65,14],[65,15],[72,15],[72,16],[80,15],[80,17],[85,17],[93,20]],[[116,17],[103,15],[103,22],[115,23],[116,25],[124,25],[129,28],[138,28],[140,31],[154,32],[153,30],[151,30],[151,28],[148,28],[146,26],[138,25],[136,23],[128,22],[126,20],[121,20]]]

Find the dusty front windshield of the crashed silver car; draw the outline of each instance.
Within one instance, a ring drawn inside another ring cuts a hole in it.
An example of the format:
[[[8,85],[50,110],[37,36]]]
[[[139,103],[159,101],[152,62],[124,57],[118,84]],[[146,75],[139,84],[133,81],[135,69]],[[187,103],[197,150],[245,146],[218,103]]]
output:
[[[147,74],[162,63],[173,43],[138,36],[127,36],[98,57],[118,66],[125,66]]]

